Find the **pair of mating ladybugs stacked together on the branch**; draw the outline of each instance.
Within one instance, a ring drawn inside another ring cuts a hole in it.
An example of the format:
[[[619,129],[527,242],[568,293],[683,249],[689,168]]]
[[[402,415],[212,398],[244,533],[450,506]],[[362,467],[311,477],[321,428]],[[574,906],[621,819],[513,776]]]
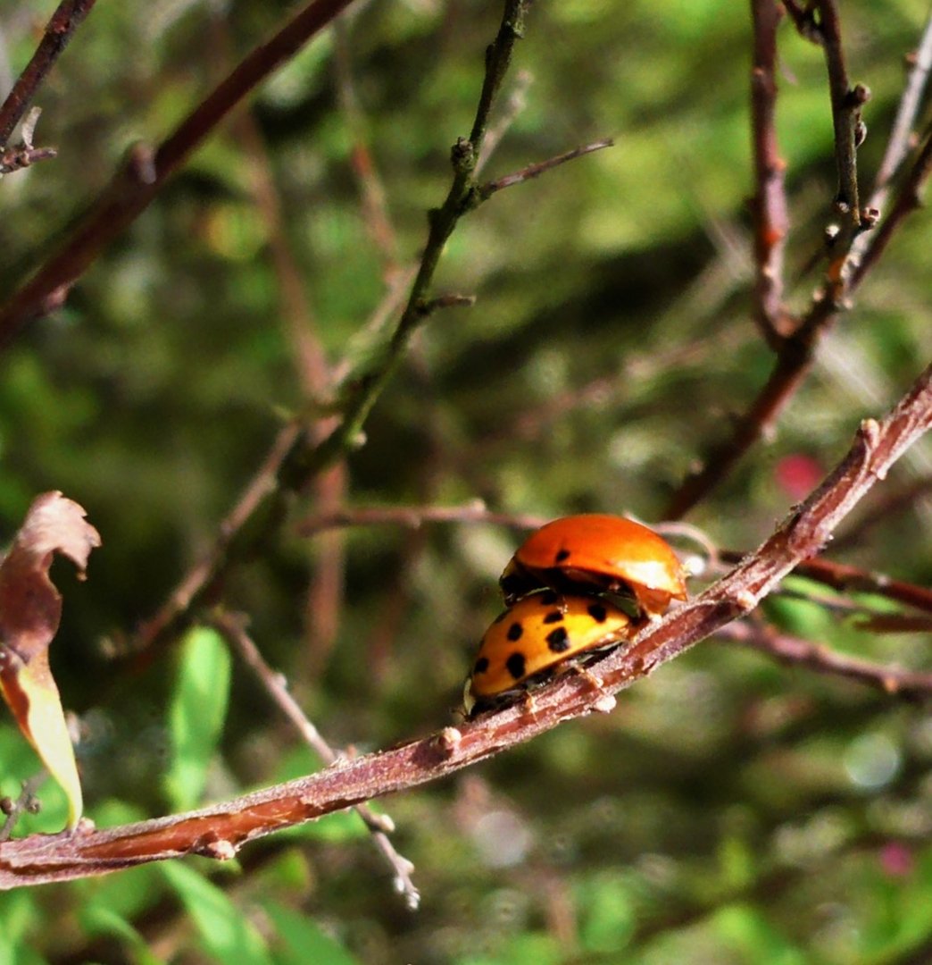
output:
[[[570,657],[617,647],[686,587],[677,555],[640,523],[597,513],[532,533],[501,575],[508,609],[466,680],[466,714],[511,700]]]

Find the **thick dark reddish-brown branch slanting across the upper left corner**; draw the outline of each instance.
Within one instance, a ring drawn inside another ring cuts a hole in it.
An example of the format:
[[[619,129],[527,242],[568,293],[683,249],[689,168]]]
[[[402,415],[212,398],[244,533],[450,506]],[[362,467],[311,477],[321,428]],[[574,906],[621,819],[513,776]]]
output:
[[[229,111],[351,2],[312,0],[272,40],[256,47],[157,150],[137,147],[130,151],[110,186],[79,219],[64,246],[0,308],[0,348],[9,345],[28,321],[61,305],[101,249],[148,207],[166,179]]]

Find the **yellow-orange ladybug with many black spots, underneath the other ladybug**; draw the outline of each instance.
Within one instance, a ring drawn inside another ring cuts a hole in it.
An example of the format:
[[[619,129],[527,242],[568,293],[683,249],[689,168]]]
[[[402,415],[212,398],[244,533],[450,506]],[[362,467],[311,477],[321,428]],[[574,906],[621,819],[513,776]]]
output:
[[[507,703],[558,673],[577,654],[588,657],[617,647],[641,625],[599,596],[562,596],[552,591],[522,596],[482,638],[466,680],[466,715],[473,717]]]

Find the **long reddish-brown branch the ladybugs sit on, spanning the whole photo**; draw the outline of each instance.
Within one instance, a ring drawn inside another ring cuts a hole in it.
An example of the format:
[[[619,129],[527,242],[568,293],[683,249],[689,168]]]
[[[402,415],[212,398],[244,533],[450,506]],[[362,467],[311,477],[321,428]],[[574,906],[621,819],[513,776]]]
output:
[[[459,728],[337,761],[318,774],[196,812],[103,831],[79,827],[71,834],[6,841],[0,843],[0,889],[89,877],[192,853],[226,860],[247,841],[438,780],[564,721],[594,709],[608,711],[617,691],[753,610],[794,566],[818,552],[845,515],[930,427],[932,366],[886,418],[862,423],[835,470],[755,553],[706,593],[593,664],[588,675],[563,675],[542,688],[533,713],[518,702]],[[594,678],[600,679],[598,687]]]

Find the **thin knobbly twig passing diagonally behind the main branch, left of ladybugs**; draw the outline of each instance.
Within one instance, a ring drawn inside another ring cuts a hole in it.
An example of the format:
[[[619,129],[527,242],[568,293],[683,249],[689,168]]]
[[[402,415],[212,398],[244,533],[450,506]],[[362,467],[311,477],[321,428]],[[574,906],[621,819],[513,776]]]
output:
[[[229,645],[236,650],[243,662],[253,671],[266,693],[278,704],[281,712],[295,726],[308,747],[328,766],[336,763],[337,755],[330,744],[321,736],[320,731],[307,719],[301,705],[291,696],[280,674],[265,662],[261,651],[255,646],[253,638],[246,632],[245,619],[241,615],[214,614],[213,625],[223,634]],[[364,804],[353,809],[359,814],[363,824],[372,834],[372,841],[385,857],[394,872],[395,890],[404,896],[412,911],[417,909],[420,893],[412,880],[413,864],[403,858],[388,839],[388,832],[394,830],[394,823],[387,814],[377,814]]]

